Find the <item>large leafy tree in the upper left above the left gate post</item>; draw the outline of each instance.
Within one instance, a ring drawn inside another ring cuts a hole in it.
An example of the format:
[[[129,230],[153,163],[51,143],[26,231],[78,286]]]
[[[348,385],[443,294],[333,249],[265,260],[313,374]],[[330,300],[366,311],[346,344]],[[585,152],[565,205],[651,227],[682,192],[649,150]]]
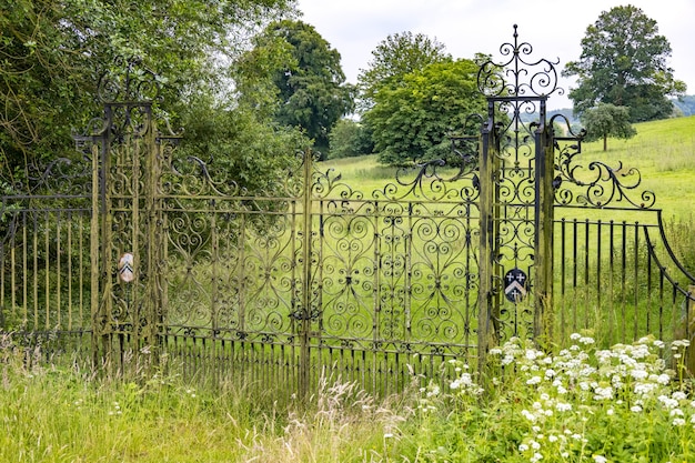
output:
[[[167,77],[159,110],[183,120],[201,95],[222,93],[221,58],[291,2],[0,0],[3,173],[73,152],[71,129],[99,113],[98,77],[115,57]]]

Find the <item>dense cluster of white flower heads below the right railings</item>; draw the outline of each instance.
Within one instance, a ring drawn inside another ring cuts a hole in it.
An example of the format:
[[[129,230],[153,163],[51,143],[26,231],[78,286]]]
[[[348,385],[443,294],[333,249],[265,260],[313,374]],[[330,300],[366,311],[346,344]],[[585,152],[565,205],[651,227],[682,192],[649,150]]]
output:
[[[557,455],[582,460],[581,455],[587,456],[587,423],[620,419],[616,414],[654,413],[651,416],[662,416],[666,425],[683,429],[689,423],[695,430],[695,401],[673,382],[675,374],[659,355],[665,348],[662,341],[647,336],[594,351],[590,336],[575,333],[571,340],[574,344],[555,356],[518,339],[490,351],[505,370],[514,370],[515,381],[531,386],[523,399],[527,406],[521,411],[527,429],[518,445],[530,462]],[[675,341],[672,349],[683,352],[687,345]],[[610,461],[601,452],[591,457],[597,463]]]

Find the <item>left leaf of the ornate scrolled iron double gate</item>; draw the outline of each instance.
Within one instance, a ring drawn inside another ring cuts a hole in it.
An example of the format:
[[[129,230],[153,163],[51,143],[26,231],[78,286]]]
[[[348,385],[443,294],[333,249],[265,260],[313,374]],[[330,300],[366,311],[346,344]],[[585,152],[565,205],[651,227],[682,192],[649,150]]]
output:
[[[295,392],[306,363],[303,165],[265,195],[209,168],[174,151],[164,157],[162,342],[195,374]]]

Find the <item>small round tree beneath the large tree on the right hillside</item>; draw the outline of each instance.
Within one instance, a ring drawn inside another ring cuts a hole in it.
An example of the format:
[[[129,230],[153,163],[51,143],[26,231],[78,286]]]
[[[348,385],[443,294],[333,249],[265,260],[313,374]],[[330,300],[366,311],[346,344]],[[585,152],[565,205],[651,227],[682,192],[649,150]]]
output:
[[[582,114],[582,123],[586,129],[586,141],[603,139],[603,150],[608,149],[608,137],[629,139],[637,131],[629,123],[629,110],[610,103],[598,103]]]

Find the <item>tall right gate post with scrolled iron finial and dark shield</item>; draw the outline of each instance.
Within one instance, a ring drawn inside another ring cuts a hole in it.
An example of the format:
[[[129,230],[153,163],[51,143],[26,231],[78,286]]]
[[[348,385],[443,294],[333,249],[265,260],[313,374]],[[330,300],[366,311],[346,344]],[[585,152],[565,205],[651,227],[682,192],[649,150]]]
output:
[[[488,59],[477,73],[488,113],[480,159],[481,365],[492,332],[544,344],[553,331],[555,163],[546,102],[562,89],[557,62],[530,59],[533,48],[518,41],[516,24],[513,38],[500,47],[507,59]],[[523,117],[536,112],[535,122]]]

